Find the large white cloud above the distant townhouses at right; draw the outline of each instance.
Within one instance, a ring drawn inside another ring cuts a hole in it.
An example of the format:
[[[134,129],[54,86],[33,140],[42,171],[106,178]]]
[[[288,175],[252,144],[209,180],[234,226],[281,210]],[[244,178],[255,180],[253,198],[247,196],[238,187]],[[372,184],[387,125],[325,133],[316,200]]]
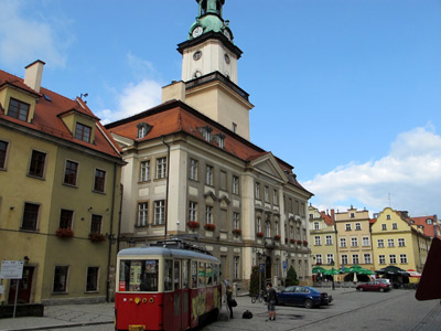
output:
[[[432,126],[400,134],[388,156],[349,163],[302,183],[323,209],[354,204],[379,212],[390,205],[412,216],[441,214],[441,137]]]

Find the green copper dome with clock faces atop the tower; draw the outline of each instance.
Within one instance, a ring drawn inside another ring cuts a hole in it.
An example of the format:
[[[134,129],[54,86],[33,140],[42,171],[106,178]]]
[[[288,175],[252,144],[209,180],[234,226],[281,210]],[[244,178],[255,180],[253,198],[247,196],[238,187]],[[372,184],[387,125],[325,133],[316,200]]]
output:
[[[224,21],[222,17],[225,0],[196,0],[196,2],[198,3],[198,15],[190,28],[189,40],[214,31],[224,33],[232,41],[233,33],[229,30],[228,21]]]

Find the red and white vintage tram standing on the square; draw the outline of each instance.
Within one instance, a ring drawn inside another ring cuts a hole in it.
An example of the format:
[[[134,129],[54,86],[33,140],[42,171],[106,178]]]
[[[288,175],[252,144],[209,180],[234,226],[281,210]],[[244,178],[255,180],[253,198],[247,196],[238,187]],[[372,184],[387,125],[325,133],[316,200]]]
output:
[[[117,257],[116,330],[178,331],[220,311],[219,260],[182,241],[122,249]]]

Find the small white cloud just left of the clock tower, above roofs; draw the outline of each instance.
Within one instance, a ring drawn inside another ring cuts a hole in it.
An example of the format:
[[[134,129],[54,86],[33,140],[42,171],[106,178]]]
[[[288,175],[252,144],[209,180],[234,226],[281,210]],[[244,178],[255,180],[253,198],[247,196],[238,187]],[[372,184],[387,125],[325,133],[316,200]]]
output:
[[[117,110],[104,109],[96,114],[106,125],[159,105],[160,96],[161,84],[158,82],[142,79],[138,84],[129,83],[120,94],[116,95]]]

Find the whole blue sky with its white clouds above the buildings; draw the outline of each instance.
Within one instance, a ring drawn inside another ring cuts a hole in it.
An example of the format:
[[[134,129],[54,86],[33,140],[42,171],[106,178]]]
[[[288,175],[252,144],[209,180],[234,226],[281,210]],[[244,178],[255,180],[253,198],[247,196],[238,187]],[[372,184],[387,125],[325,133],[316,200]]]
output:
[[[244,51],[251,141],[294,167],[321,209],[441,216],[441,1],[226,0]],[[0,68],[88,93],[104,122],[181,78],[194,0],[0,0]]]

